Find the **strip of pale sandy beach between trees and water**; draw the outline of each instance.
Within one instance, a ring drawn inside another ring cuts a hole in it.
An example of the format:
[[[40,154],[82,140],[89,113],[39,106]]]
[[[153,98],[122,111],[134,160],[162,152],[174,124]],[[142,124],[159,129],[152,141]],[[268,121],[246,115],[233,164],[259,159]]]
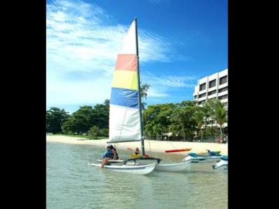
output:
[[[105,149],[105,145],[109,139],[99,139],[99,140],[91,140],[91,139],[83,139],[78,137],[67,137],[60,135],[47,135],[47,141],[50,142],[59,142],[66,144],[89,144],[93,146],[100,146]],[[127,148],[136,147],[140,148],[140,141],[135,142],[123,142],[116,145],[118,150],[127,150]],[[149,153],[151,149],[152,152],[155,153],[165,153],[165,150],[174,150],[181,148],[192,148],[190,150],[191,153],[201,153],[207,150],[221,151],[221,155],[227,155],[227,144],[216,144],[216,143],[202,143],[202,142],[186,142],[186,141],[154,141],[154,140],[144,140],[144,146],[146,153]],[[185,155],[186,152],[172,153],[176,155]]]

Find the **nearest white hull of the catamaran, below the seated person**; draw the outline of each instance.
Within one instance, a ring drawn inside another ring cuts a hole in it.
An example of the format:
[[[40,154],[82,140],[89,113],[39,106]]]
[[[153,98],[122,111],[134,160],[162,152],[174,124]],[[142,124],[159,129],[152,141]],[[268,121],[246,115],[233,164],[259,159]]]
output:
[[[100,167],[100,164],[90,163],[92,167]],[[111,169],[113,171],[119,172],[126,172],[126,173],[134,173],[145,175],[151,173],[156,167],[156,164],[144,164],[144,165],[120,165],[120,166],[112,166],[112,165],[105,165],[105,169]]]

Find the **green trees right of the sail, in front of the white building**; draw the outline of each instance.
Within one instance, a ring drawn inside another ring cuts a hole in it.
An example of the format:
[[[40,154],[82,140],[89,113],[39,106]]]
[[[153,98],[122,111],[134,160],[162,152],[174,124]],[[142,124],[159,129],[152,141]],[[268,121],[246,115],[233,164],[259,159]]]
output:
[[[144,136],[150,139],[193,141],[223,138],[227,110],[218,99],[198,106],[196,101],[150,105],[143,114]]]

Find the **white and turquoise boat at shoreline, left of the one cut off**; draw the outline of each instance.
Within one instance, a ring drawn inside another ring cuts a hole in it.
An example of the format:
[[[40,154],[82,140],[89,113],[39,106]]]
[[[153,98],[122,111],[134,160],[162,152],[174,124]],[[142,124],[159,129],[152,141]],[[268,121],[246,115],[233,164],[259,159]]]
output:
[[[185,157],[182,162],[216,162],[220,160],[223,155],[207,150],[206,154],[197,154],[197,153],[188,153],[188,156]]]

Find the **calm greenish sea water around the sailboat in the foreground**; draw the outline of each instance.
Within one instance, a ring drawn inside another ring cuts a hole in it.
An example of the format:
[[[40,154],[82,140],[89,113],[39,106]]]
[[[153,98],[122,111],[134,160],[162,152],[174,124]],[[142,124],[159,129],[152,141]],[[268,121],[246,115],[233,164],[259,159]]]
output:
[[[192,163],[180,173],[140,176],[90,167],[105,151],[90,145],[47,142],[47,208],[227,208],[227,170]],[[148,150],[147,154],[148,153]],[[121,156],[129,151],[119,150]],[[182,156],[161,154],[163,162]]]

